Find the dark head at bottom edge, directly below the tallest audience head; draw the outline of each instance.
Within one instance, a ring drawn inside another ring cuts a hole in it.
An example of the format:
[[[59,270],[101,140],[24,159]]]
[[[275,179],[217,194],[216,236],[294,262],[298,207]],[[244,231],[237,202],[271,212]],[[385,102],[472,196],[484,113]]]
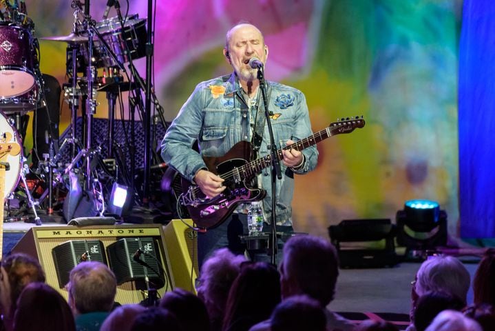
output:
[[[271,314],[271,331],[326,330],[324,308],[315,299],[295,295],[277,305]]]

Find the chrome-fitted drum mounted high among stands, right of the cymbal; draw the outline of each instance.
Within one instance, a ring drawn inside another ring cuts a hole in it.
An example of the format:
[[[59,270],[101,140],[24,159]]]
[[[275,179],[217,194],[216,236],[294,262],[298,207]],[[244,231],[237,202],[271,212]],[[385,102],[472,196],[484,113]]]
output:
[[[118,17],[112,17],[96,23],[96,30],[120,63],[129,62],[129,59],[145,57],[146,19],[139,19],[137,14],[127,17],[124,29],[122,29]],[[93,45],[93,58],[95,59],[93,64],[96,68],[118,66],[100,39],[94,37]],[[83,52],[85,52],[87,61],[87,50],[83,50]]]

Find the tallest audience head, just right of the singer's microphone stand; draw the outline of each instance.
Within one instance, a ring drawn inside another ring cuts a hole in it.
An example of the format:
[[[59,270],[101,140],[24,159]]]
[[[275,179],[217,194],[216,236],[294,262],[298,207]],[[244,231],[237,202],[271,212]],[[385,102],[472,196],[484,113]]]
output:
[[[297,235],[285,243],[280,264],[282,297],[307,294],[326,307],[335,295],[338,276],[337,250],[329,241]]]

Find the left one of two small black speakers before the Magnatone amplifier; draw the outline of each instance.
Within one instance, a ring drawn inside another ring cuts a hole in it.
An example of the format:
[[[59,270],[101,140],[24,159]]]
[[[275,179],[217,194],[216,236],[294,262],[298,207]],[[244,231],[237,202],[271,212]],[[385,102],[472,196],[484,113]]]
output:
[[[56,278],[59,288],[69,282],[70,270],[84,261],[98,261],[107,264],[105,247],[99,240],[70,240],[56,245],[53,250]]]

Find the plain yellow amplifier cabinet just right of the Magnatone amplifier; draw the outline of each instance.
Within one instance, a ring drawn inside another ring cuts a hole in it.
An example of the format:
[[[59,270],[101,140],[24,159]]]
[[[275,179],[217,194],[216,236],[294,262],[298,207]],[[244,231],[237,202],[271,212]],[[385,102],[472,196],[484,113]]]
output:
[[[190,227],[191,219],[185,219],[184,222],[173,219],[163,228],[165,245],[169,252],[174,252],[170,256],[170,265],[175,285],[189,292],[196,292],[195,281],[200,274],[198,232]]]

